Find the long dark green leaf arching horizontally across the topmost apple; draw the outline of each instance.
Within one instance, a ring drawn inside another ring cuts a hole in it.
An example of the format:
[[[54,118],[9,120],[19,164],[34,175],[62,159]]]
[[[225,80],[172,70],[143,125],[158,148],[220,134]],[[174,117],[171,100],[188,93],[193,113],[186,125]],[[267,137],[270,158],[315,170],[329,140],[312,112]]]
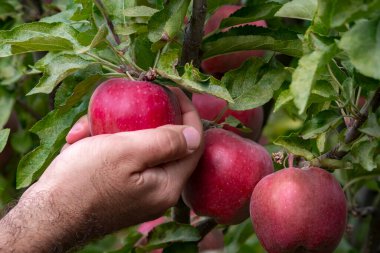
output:
[[[265,49],[300,57],[302,43],[294,32],[264,27],[243,26],[216,33],[202,43],[203,58],[242,50]]]

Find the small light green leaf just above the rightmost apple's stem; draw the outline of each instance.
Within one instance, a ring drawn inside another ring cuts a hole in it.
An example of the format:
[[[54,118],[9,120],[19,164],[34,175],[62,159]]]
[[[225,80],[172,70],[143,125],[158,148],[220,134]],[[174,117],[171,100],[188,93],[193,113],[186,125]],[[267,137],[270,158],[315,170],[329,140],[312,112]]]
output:
[[[287,149],[294,155],[305,157],[307,160],[311,160],[314,157],[313,153],[310,152],[310,141],[302,139],[297,134],[278,137],[273,143]]]

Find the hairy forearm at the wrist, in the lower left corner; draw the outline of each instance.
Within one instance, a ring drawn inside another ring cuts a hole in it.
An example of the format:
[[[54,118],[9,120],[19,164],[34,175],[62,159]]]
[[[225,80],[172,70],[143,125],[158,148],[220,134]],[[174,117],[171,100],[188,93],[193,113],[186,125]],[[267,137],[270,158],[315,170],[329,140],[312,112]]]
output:
[[[61,201],[47,190],[24,194],[0,220],[0,252],[65,252],[98,234],[93,219]]]

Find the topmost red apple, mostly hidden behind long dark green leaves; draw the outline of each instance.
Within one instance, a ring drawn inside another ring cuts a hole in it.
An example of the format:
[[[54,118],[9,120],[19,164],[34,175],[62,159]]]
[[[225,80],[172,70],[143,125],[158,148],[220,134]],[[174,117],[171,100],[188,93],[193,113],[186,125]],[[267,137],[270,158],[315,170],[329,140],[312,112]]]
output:
[[[241,6],[238,5],[224,5],[218,8],[215,13],[208,19],[205,24],[205,35],[215,31],[219,28],[220,23],[223,19],[229,17],[232,13],[240,9]],[[248,25],[262,26],[266,27],[266,23],[263,20],[247,23]],[[245,24],[246,25],[246,24]],[[241,26],[241,25],[238,25]],[[223,29],[222,31],[227,31]],[[249,50],[228,53],[225,55],[218,55],[202,62],[202,69],[208,74],[220,74],[225,73],[231,69],[236,69],[245,62],[248,58],[252,56],[262,57],[264,51],[262,50]]]

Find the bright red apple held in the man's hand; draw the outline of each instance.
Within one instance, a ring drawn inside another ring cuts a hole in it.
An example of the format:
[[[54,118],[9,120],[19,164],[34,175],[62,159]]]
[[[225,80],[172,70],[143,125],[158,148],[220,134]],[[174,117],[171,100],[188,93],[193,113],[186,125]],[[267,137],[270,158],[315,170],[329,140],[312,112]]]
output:
[[[167,88],[146,81],[113,78],[94,91],[88,109],[92,135],[181,124],[181,109]]]

